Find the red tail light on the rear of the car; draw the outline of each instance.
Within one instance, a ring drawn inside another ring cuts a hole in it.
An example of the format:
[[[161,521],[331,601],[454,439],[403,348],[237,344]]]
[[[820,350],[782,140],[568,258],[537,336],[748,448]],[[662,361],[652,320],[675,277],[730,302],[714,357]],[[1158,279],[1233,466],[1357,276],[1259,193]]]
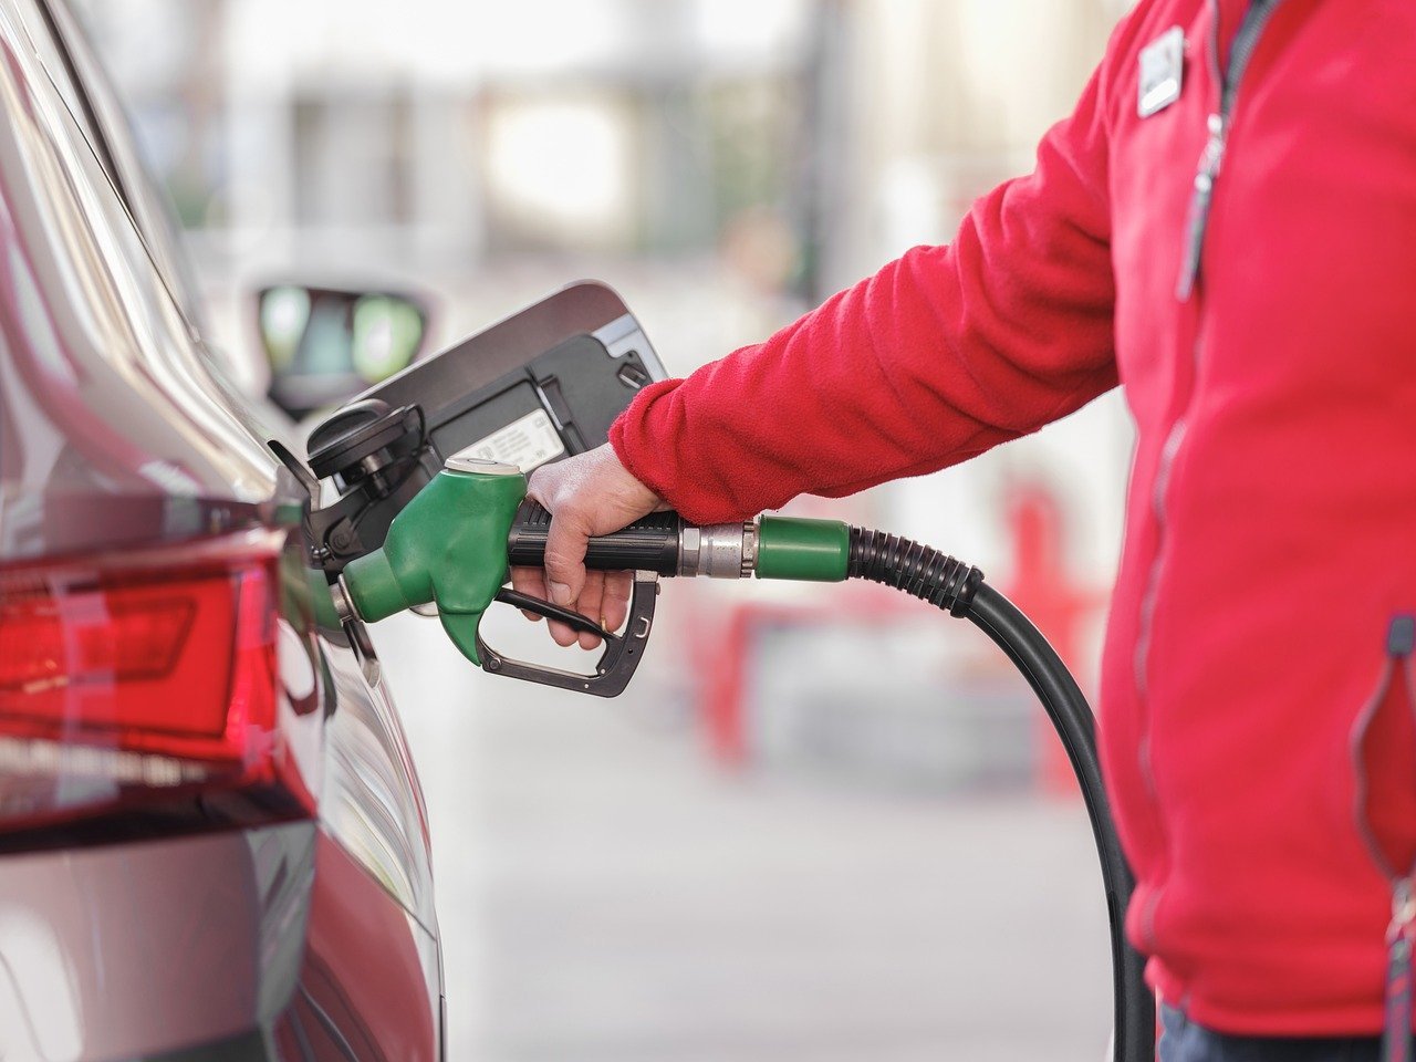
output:
[[[0,571],[0,828],[194,792],[309,807],[279,600],[269,539]]]

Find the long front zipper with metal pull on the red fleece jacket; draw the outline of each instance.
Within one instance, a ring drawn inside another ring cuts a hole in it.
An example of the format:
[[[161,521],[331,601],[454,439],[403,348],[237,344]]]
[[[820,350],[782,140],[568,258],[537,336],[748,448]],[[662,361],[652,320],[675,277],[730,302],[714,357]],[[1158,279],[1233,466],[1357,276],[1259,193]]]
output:
[[[1283,3],[1283,0],[1250,0],[1250,4],[1245,11],[1243,23],[1239,25],[1239,31],[1235,34],[1233,42],[1229,47],[1228,69],[1222,71],[1219,65],[1219,0],[1209,0],[1212,23],[1209,33],[1209,64],[1211,75],[1215,84],[1219,85],[1219,109],[1209,115],[1208,119],[1209,137],[1206,139],[1205,147],[1199,156],[1199,164],[1195,171],[1195,187],[1189,200],[1189,212],[1185,224],[1185,245],[1181,256],[1181,273],[1175,286],[1175,296],[1181,302],[1187,302],[1191,297],[1195,289],[1195,282],[1199,276],[1199,259],[1201,252],[1204,251],[1205,232],[1209,227],[1209,207],[1214,198],[1215,181],[1219,178],[1219,167],[1225,157],[1229,123],[1233,115],[1235,99],[1239,95],[1239,82],[1243,79],[1245,71],[1249,67],[1249,59],[1253,58],[1255,48],[1259,44],[1259,38],[1262,37],[1264,27],[1267,27],[1269,20],[1273,17],[1273,13],[1277,10],[1280,3]],[[1198,362],[1199,351],[1191,350],[1191,357],[1195,362]],[[1187,406],[1188,401],[1189,399],[1187,398]],[[1185,412],[1181,412],[1181,415],[1171,425],[1170,432],[1165,436],[1165,443],[1161,447],[1160,464],[1155,470],[1155,483],[1151,493],[1151,508],[1155,513],[1157,544],[1155,556],[1151,561],[1150,572],[1146,576],[1146,592],[1141,596],[1140,632],[1136,639],[1134,658],[1136,691],[1143,704],[1148,700],[1150,694],[1147,661],[1151,646],[1151,630],[1155,620],[1161,558],[1164,555],[1165,544],[1165,497],[1170,493],[1171,469],[1174,467],[1175,456],[1180,453],[1181,443],[1185,439],[1185,430],[1187,415]],[[1158,800],[1158,793],[1154,772],[1151,769],[1148,719],[1141,724],[1137,760],[1141,780],[1146,784],[1151,801],[1154,803]],[[1161,891],[1157,888],[1150,895],[1141,916],[1141,932],[1144,933],[1146,943],[1150,950],[1155,949],[1154,923],[1155,909],[1160,906],[1160,892]]]

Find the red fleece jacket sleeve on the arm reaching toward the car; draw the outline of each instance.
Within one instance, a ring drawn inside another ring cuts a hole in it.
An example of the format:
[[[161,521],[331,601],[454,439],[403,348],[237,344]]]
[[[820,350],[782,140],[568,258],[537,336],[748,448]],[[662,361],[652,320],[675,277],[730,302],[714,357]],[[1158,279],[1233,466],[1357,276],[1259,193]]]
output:
[[[624,466],[688,520],[742,520],[954,464],[1114,387],[1104,71],[953,244],[647,387],[610,429]]]

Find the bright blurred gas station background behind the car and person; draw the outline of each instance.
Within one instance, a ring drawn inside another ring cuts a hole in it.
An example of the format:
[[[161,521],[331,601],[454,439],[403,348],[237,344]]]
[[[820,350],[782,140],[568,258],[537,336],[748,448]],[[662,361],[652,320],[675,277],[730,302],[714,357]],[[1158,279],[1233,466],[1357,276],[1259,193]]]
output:
[[[1123,8],[81,4],[253,389],[252,293],[283,280],[419,292],[438,350],[596,278],[687,374],[947,242],[1031,169]],[[797,510],[980,565],[1090,690],[1130,446],[1109,395]],[[649,674],[609,704],[476,674],[416,617],[377,630],[428,794],[450,1058],[1100,1058],[1099,881],[1041,709],[973,632],[899,609],[668,585]],[[513,616],[494,636],[554,658]]]

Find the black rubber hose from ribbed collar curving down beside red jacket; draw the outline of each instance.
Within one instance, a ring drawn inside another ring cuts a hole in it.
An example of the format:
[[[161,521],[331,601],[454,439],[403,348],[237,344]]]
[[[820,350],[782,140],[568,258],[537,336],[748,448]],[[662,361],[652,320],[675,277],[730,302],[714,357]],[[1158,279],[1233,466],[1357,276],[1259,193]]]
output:
[[[1117,1062],[1155,1058],[1155,1000],[1146,987],[1146,959],[1126,940],[1126,908],[1134,878],[1112,818],[1096,752],[1096,718],[1072,673],[1032,622],[984,582],[971,565],[882,531],[851,528],[848,575],[905,590],[987,634],[1028,680],[1056,728],[1082,799],[1102,862],[1106,918],[1112,930],[1114,1052]]]

